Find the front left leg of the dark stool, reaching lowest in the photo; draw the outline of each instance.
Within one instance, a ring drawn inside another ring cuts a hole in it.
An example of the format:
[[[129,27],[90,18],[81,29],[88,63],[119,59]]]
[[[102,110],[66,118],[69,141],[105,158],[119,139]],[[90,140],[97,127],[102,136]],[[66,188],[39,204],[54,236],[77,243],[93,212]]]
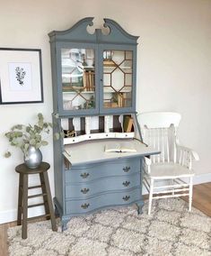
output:
[[[28,174],[23,174],[22,176],[22,239],[26,239],[28,215]]]

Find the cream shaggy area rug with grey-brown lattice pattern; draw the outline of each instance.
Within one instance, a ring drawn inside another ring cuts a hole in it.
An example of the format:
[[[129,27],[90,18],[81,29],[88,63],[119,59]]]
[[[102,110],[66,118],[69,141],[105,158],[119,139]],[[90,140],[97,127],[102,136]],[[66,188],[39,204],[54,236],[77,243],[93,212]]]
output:
[[[136,256],[211,255],[211,218],[180,198],[154,201],[152,215],[137,215],[136,206],[102,210],[74,217],[67,230],[51,230],[49,221],[28,224],[22,240],[21,226],[8,230],[12,256]]]

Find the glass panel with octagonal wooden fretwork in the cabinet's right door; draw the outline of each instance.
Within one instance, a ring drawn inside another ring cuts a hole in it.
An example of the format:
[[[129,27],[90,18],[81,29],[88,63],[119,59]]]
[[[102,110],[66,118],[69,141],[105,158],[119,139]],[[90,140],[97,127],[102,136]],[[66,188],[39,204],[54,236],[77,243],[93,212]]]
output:
[[[103,108],[132,107],[133,51],[103,50]]]

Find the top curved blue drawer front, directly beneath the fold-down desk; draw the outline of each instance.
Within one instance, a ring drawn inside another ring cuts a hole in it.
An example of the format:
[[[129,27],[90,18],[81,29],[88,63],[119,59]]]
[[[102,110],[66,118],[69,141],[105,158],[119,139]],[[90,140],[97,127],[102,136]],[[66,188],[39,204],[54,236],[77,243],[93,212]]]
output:
[[[96,178],[128,175],[140,170],[140,158],[104,161],[66,170],[66,182],[86,182]]]

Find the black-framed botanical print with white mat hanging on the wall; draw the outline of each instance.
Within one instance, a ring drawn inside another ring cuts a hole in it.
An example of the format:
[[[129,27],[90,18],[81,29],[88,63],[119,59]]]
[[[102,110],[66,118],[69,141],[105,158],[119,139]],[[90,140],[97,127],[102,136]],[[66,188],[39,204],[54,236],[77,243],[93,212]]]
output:
[[[0,104],[42,102],[41,50],[0,48]]]

